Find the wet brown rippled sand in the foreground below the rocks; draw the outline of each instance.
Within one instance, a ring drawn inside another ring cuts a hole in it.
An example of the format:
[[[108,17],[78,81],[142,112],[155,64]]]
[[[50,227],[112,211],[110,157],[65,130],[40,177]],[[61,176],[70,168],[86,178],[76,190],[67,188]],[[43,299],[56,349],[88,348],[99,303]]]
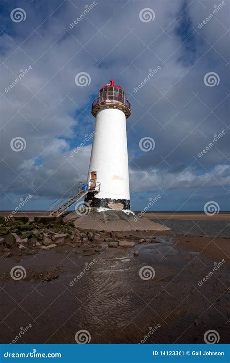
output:
[[[87,257],[78,247],[60,247],[35,257],[1,258],[0,342],[10,343],[31,324],[18,343],[75,343],[82,329],[91,343],[139,343],[145,336],[146,343],[203,343],[210,329],[220,335],[219,343],[227,343],[230,240],[173,231],[128,234],[134,241],[155,236],[155,243],[106,248]],[[199,286],[222,259],[226,262]],[[25,279],[10,277],[15,265],[26,269]],[[140,278],[144,266],[154,268],[154,278]]]

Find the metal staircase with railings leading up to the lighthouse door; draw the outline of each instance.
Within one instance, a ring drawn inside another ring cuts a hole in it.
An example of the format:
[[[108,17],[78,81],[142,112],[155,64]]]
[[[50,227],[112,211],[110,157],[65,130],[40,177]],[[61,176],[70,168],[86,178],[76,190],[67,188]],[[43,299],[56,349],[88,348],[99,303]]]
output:
[[[61,216],[69,207],[71,207],[74,203],[82,199],[88,193],[99,193],[100,191],[100,183],[94,183],[90,185],[90,183],[78,183],[78,191],[73,196],[68,198],[65,202],[60,198],[57,199],[54,203],[49,206],[50,216],[59,217]]]

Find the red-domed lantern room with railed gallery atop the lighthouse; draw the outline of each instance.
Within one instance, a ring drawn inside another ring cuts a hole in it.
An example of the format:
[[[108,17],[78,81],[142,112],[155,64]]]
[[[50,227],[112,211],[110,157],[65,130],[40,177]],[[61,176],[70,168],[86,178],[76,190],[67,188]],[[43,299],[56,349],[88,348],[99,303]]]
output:
[[[114,79],[110,79],[110,84],[107,83],[99,90],[99,96],[92,104],[92,114],[97,115],[97,112],[104,108],[118,108],[125,113],[126,118],[131,114],[130,103],[126,99],[125,92],[120,86],[116,86]]]

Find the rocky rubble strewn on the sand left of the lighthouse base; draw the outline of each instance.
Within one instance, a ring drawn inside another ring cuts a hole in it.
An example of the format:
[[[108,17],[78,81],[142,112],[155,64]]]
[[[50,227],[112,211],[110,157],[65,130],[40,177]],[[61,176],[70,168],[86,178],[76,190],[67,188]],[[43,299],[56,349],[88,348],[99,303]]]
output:
[[[84,256],[102,252],[107,247],[131,248],[145,238],[133,235],[120,237],[120,233],[76,228],[72,221],[62,217],[14,217],[9,222],[0,218],[0,253],[4,257],[36,254],[39,250],[73,247],[76,254]],[[148,242],[155,242],[154,240]]]

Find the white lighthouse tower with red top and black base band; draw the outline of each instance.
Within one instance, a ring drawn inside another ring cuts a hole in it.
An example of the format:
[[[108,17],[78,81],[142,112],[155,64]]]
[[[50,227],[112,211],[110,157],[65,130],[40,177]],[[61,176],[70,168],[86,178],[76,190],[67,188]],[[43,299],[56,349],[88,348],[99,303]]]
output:
[[[96,121],[85,202],[93,208],[130,209],[126,119],[131,109],[114,79],[99,90],[91,112]]]

